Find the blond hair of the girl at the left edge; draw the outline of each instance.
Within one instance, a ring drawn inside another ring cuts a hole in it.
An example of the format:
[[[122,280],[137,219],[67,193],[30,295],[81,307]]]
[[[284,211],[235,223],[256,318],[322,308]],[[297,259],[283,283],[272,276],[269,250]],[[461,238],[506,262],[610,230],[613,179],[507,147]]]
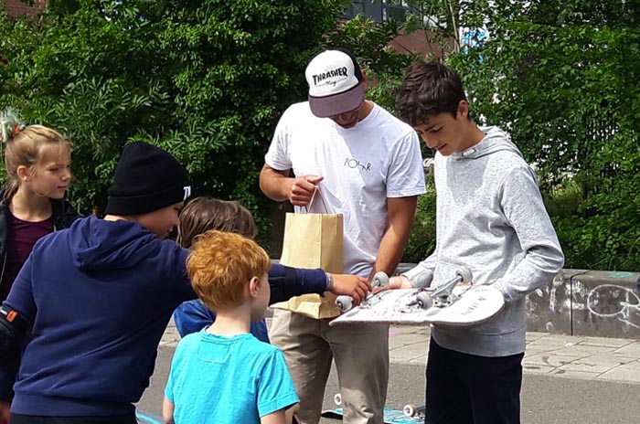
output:
[[[6,111],[0,117],[0,132],[5,143],[5,202],[16,194],[20,186],[18,167],[27,166],[30,173],[35,173],[37,165],[46,159],[71,154],[67,137],[43,125],[26,126],[16,119],[12,111]]]

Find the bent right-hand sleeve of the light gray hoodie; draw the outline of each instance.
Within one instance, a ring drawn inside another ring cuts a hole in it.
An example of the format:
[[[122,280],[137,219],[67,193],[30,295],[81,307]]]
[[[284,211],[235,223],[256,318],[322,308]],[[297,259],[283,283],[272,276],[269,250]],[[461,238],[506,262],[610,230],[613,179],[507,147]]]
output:
[[[512,302],[553,280],[562,269],[564,255],[533,170],[517,167],[505,175],[500,203],[525,252],[515,269],[494,283],[505,301]]]

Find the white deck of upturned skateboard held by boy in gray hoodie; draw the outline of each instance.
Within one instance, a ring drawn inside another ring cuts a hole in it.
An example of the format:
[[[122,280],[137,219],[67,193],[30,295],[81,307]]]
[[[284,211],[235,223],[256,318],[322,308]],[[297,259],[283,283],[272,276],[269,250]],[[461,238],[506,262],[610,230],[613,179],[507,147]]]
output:
[[[329,325],[347,323],[393,323],[414,325],[432,323],[449,327],[468,327],[484,323],[505,305],[505,298],[489,285],[458,285],[453,295],[459,298],[447,306],[423,309],[415,299],[424,289],[397,289],[379,292],[366,304],[343,313]]]

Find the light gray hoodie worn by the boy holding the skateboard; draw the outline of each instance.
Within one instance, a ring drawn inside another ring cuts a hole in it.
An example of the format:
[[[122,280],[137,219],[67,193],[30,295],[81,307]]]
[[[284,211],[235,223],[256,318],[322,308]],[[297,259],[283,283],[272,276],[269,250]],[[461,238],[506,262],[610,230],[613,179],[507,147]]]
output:
[[[492,284],[505,309],[464,329],[434,326],[438,345],[481,356],[525,351],[525,296],[551,281],[564,256],[531,167],[507,133],[480,127],[485,138],[463,152],[435,157],[436,246],[407,271],[414,286],[437,287],[463,265],[475,284]]]

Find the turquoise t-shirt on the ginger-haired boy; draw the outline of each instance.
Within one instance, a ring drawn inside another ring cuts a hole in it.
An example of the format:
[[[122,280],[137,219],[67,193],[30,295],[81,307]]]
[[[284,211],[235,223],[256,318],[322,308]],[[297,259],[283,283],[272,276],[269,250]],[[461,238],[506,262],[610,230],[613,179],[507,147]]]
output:
[[[299,402],[283,353],[252,334],[189,334],[177,345],[165,396],[176,424],[260,424]]]

